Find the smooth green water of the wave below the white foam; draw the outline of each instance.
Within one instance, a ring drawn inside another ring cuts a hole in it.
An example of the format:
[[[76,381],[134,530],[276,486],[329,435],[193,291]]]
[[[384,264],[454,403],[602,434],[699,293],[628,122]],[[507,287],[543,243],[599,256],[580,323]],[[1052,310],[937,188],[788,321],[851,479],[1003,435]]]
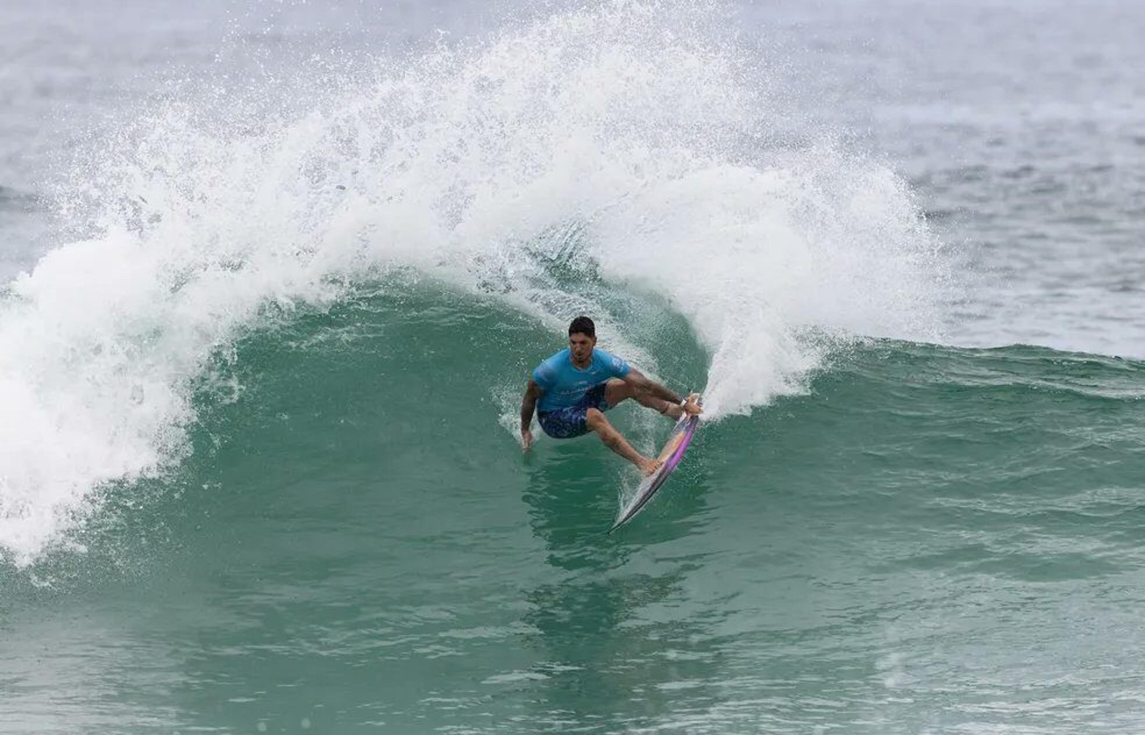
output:
[[[1139,717],[1140,362],[836,345],[800,394],[702,424],[608,536],[624,463],[592,437],[522,456],[506,428],[559,332],[433,283],[269,324],[197,384],[192,453],[103,491],[86,553],[0,571],[0,732]],[[702,382],[685,323],[629,326]],[[613,416],[638,445],[670,428]]]

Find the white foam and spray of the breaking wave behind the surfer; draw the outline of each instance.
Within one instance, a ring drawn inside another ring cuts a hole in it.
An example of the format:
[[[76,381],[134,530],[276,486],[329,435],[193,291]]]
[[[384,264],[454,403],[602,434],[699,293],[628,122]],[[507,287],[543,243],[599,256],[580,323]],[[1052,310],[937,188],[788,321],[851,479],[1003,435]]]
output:
[[[387,274],[558,335],[591,314],[653,373],[630,309],[682,318],[712,418],[800,390],[842,335],[933,337],[949,277],[903,183],[792,122],[798,97],[710,9],[670,10],[605,5],[290,89],[187,85],[119,131],[73,173],[88,236],[0,307],[5,554],[34,560],[100,488],[184,460],[196,381],[236,339]]]

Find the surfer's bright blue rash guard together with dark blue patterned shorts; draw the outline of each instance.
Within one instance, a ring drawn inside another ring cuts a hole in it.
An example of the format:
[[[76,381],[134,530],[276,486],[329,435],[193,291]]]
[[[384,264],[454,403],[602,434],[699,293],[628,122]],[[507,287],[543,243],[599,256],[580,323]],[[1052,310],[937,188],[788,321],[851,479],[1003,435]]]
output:
[[[584,369],[572,364],[568,348],[545,359],[532,371],[532,381],[544,392],[537,404],[540,428],[555,438],[586,433],[589,409],[611,408],[605,401],[605,384],[629,370],[627,362],[602,349],[592,350],[592,362]]]

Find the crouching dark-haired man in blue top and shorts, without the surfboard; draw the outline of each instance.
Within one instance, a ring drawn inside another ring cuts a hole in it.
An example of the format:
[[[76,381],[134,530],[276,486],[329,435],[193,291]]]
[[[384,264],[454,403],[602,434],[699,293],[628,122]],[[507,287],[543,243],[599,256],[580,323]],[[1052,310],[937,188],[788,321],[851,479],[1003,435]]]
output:
[[[597,325],[592,319],[586,316],[572,319],[569,346],[537,365],[529,377],[529,387],[521,401],[521,445],[529,451],[536,410],[540,428],[553,438],[595,432],[606,446],[650,475],[664,463],[633,449],[608,422],[605,411],[625,398],[635,398],[640,405],[679,418],[684,413],[702,412],[698,395],[692,394],[684,401],[622,357],[595,347]]]

